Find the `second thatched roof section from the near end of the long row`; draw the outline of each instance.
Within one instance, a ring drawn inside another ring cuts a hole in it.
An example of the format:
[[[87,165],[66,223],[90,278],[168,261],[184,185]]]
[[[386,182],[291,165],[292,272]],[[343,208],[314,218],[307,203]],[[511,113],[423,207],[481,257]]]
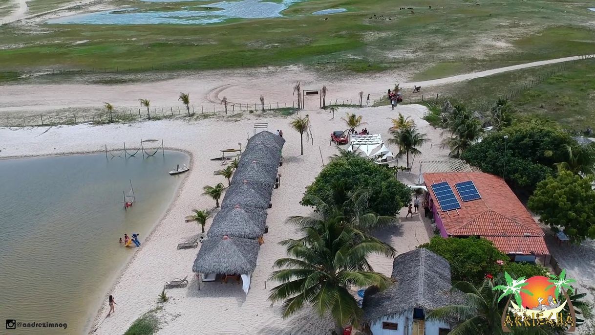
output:
[[[266,221],[267,211],[264,209],[239,205],[227,207],[215,215],[206,235],[208,237],[228,235],[255,239],[264,234]]]

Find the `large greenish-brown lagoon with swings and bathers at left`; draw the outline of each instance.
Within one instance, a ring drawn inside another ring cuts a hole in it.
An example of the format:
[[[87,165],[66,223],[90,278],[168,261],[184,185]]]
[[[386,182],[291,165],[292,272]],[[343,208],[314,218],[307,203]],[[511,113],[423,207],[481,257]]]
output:
[[[17,334],[82,334],[136,251],[118,237],[145,240],[183,179],[167,172],[188,162],[176,151],[0,160],[0,320],[67,322]],[[129,179],[136,200],[124,211]]]

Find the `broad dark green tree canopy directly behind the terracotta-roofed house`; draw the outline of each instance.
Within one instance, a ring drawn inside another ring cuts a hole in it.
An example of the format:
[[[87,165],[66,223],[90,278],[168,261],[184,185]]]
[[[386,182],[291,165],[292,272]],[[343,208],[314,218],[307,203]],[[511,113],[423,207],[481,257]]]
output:
[[[538,182],[555,172],[555,163],[566,159],[566,145],[575,143],[557,126],[526,122],[487,135],[461,157],[483,172],[504,176],[513,187],[531,193]]]

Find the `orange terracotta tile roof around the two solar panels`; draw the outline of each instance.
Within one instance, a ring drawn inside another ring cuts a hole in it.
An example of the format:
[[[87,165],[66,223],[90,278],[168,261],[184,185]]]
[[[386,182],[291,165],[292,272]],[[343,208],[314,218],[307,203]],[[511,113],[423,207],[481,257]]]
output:
[[[481,199],[463,202],[455,184],[469,180]],[[515,253],[521,248],[525,255],[549,255],[543,231],[502,178],[484,172],[424,173],[424,181],[449,236],[477,235],[493,241],[502,252]],[[430,187],[439,182],[448,182],[460,209],[441,211]]]

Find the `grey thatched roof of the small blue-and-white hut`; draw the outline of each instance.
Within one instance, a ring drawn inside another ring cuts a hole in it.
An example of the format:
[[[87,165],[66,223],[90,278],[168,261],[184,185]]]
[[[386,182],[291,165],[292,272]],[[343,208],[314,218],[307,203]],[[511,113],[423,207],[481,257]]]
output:
[[[461,294],[450,293],[449,263],[430,250],[415,249],[397,256],[391,277],[395,280],[393,286],[365,294],[365,321],[399,315],[411,308],[423,308],[427,313],[462,301]]]

